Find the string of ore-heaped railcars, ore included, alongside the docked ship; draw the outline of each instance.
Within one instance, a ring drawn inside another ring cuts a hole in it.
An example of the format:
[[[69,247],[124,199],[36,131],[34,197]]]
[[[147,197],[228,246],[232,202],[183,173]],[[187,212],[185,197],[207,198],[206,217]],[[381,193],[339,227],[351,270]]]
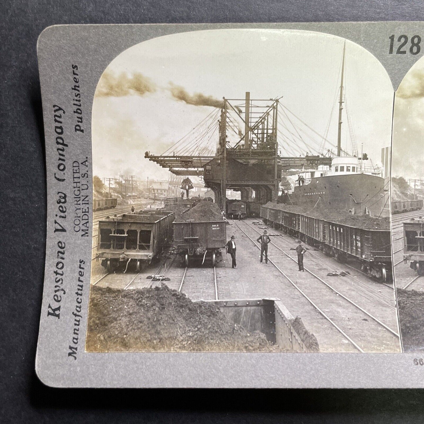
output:
[[[302,212],[296,206],[261,207],[263,222],[298,237],[339,262],[355,259],[361,269],[381,282],[391,280],[391,235],[388,218],[323,212]]]

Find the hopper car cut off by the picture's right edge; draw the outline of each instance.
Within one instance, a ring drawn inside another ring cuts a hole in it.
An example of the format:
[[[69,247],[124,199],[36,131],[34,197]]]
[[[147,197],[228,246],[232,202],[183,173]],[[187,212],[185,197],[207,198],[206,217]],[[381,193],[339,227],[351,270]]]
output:
[[[424,275],[424,220],[414,219],[403,223],[403,259],[410,268]]]

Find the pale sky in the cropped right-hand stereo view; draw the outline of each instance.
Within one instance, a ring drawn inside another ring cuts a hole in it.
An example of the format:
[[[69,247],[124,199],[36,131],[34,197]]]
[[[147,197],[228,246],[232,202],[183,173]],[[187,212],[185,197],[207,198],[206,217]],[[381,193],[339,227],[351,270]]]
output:
[[[395,95],[392,175],[423,179],[424,60],[404,76]]]

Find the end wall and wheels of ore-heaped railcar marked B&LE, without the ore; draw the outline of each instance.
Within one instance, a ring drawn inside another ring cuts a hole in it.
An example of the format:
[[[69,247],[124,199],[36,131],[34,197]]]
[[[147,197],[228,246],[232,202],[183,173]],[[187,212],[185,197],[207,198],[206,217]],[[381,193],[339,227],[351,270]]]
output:
[[[174,222],[173,247],[186,267],[205,261],[215,266],[222,260],[220,248],[226,244],[226,221]]]

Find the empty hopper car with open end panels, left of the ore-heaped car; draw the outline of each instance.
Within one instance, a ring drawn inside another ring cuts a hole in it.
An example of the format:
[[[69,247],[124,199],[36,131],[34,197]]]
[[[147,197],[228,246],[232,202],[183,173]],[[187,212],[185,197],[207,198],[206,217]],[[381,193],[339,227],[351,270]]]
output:
[[[139,271],[172,242],[174,213],[125,214],[98,223],[97,260],[108,272],[127,269],[134,263]]]

